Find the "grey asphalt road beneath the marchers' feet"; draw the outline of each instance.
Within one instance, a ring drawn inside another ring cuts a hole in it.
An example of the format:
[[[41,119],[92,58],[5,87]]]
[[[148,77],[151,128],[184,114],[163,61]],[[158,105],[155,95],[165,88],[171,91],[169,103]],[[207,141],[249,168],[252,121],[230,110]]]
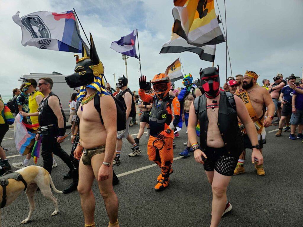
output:
[[[248,151],[245,160],[246,173],[233,176],[228,186],[227,194],[232,210],[221,219],[219,226],[303,226],[302,140],[290,140],[289,133],[285,132],[281,137],[275,137],[276,131],[271,132],[275,129],[277,126],[266,129],[267,143],[263,150],[266,175],[256,174],[250,161],[251,151]],[[137,134],[138,130],[138,125],[130,127],[131,134]],[[180,137],[175,139],[175,158],[180,157],[179,153],[185,149],[185,131],[183,128]],[[162,192],[156,192],[154,186],[160,169],[158,166],[149,167],[153,162],[148,160],[148,140],[145,135],[139,144],[142,153],[135,157],[128,157],[131,145],[123,139],[121,166],[114,166],[120,179],[120,183],[114,186],[119,199],[120,226],[209,226],[212,193],[203,166],[195,162],[193,155],[175,160],[169,187]],[[9,148],[7,156],[18,154],[13,137],[13,129],[10,129],[2,142],[3,147]],[[65,140],[62,147],[70,153],[70,140]],[[16,163],[23,159],[20,156],[9,157],[9,162]],[[71,180],[63,180],[68,168],[59,158],[56,158],[56,161],[58,167],[52,169],[52,179],[56,188],[63,190]],[[42,159],[38,160],[38,165],[43,165]],[[127,173],[132,170],[139,171]],[[96,198],[96,226],[107,226],[108,217],[96,182],[92,189]],[[54,211],[52,202],[43,197],[41,192],[37,192],[36,209],[31,222],[25,225],[84,226],[78,192],[67,195],[55,192],[53,194],[58,199],[59,214],[51,216]],[[2,209],[2,226],[20,226],[21,221],[28,215],[28,208],[28,201],[23,192],[10,206]]]

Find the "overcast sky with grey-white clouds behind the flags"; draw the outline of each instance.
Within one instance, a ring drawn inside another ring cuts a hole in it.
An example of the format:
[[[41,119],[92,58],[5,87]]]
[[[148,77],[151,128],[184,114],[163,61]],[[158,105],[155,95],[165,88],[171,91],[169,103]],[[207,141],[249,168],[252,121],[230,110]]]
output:
[[[218,0],[222,21],[225,22],[224,1]],[[232,74],[246,70],[260,74],[271,82],[282,73],[302,76],[303,67],[303,1],[226,1],[227,39]],[[114,85],[113,73],[125,74],[121,54],[110,49],[112,41],[138,28],[142,74],[150,80],[163,73],[179,56],[185,74],[199,76],[199,69],[211,67],[211,62],[201,61],[197,54],[159,54],[162,45],[170,39],[173,17],[173,0],[0,0],[0,43],[2,70],[0,93],[11,94],[18,87],[22,74],[52,73],[69,75],[75,67],[74,53],[42,50],[21,44],[21,28],[12,16],[20,17],[37,11],[65,12],[75,8],[85,32],[92,33],[100,60],[105,66],[105,76]],[[219,14],[215,4],[216,13]],[[221,27],[222,29],[222,27]],[[223,31],[223,30],[222,30]],[[85,36],[82,33],[82,38]],[[138,50],[137,50],[138,51]],[[221,85],[225,80],[225,43],[217,45],[215,65],[220,66]],[[128,78],[132,87],[138,87],[140,76],[136,58],[128,59]],[[228,76],[231,75],[228,63]],[[181,87],[181,81],[175,83]],[[139,88],[139,87],[138,87]]]

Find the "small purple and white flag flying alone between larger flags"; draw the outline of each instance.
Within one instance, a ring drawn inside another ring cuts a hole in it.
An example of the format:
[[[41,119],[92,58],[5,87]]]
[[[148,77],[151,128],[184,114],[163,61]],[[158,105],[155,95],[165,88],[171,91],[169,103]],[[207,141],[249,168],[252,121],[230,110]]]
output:
[[[131,34],[122,36],[118,41],[112,42],[111,48],[118,53],[139,59],[136,54],[136,38],[137,30],[134,30]]]

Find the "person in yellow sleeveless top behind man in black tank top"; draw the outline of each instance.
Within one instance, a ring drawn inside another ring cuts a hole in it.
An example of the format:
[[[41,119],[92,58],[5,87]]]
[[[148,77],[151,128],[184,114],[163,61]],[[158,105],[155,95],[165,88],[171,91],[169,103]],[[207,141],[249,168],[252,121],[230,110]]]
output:
[[[22,91],[26,94],[29,94],[29,98],[28,98],[28,107],[29,107],[29,113],[20,111],[19,113],[23,116],[23,117],[30,117],[32,124],[37,124],[38,123],[38,107],[39,107],[39,103],[43,100],[44,95],[40,92],[36,90],[37,87],[37,82],[35,81],[35,79],[28,79],[25,84],[24,87],[22,88]],[[33,130],[37,130],[38,127],[33,128]],[[20,163],[12,163],[12,165],[18,169],[22,169],[25,166],[29,166],[29,160],[31,159],[31,153],[28,153],[25,157],[25,160],[23,162]]]

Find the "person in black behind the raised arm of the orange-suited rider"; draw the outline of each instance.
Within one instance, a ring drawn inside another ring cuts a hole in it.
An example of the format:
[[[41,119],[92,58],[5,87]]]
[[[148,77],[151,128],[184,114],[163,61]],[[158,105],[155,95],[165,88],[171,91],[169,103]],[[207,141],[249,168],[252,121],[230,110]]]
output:
[[[145,87],[145,93],[151,94],[151,82],[146,82],[148,85]],[[147,129],[147,136],[145,138],[149,138],[149,114],[151,110],[151,103],[143,102],[142,104],[138,105],[139,108],[142,108],[142,115],[140,119],[140,129],[138,132],[138,136],[135,138],[135,142],[139,145],[140,138],[144,133],[144,128],[146,126]]]

